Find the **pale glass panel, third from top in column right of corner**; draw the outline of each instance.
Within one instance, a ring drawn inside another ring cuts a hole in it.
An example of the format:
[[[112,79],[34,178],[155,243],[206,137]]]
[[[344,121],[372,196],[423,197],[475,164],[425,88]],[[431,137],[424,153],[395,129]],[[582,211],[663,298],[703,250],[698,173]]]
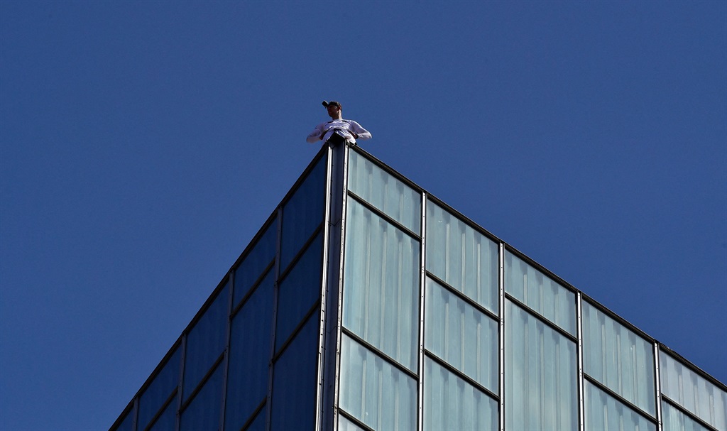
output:
[[[343,335],[340,407],[374,430],[417,429],[417,381]]]

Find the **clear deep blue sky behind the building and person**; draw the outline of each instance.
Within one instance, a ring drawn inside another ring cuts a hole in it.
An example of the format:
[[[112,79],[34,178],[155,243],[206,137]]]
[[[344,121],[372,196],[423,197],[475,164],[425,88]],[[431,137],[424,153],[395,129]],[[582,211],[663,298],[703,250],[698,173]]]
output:
[[[366,150],[727,382],[724,1],[0,1],[0,429],[103,430]]]

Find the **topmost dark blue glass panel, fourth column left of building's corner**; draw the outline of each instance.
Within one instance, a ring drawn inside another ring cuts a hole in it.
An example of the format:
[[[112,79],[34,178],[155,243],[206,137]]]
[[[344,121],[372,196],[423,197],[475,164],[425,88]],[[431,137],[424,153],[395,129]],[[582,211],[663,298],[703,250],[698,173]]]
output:
[[[177,347],[139,399],[138,430],[146,428],[151,418],[159,411],[159,408],[164,406],[166,400],[169,400],[169,396],[179,386],[181,363],[182,349]]]

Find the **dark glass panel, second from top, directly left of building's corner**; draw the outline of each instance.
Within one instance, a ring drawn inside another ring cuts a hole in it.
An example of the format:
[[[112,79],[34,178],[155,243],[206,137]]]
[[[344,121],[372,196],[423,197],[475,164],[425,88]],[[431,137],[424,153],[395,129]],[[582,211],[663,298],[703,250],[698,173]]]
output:
[[[318,234],[278,287],[276,351],[321,297],[323,235]]]

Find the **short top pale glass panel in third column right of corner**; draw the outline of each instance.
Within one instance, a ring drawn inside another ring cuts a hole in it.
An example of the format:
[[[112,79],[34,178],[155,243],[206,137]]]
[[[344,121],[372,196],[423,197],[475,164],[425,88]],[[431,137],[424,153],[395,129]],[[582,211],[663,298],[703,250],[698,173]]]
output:
[[[564,331],[576,334],[576,295],[507,252],[505,291]]]

